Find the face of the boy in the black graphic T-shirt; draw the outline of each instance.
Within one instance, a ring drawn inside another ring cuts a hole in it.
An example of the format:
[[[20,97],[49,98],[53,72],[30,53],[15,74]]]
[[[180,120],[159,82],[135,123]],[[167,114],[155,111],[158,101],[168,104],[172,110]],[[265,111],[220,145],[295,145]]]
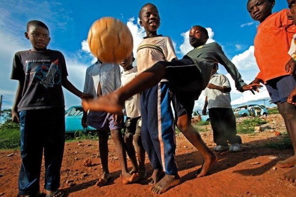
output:
[[[30,40],[34,51],[45,50],[50,41],[49,31],[38,25],[29,26],[24,35],[26,39]]]

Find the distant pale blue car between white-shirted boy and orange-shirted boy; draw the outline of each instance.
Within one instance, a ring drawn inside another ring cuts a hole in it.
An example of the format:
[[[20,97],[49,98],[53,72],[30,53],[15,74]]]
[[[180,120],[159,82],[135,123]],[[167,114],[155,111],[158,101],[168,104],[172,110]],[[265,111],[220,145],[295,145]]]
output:
[[[267,116],[268,110],[263,105],[250,104],[243,105],[233,109],[234,115],[238,117],[247,117],[247,116]]]

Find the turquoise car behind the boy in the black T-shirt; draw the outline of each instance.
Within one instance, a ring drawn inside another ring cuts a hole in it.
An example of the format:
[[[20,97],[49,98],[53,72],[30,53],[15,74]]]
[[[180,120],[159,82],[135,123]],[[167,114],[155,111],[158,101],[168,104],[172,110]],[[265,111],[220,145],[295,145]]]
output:
[[[82,106],[72,106],[65,111],[66,133],[74,133],[76,131],[87,132],[87,131],[96,130],[89,126],[86,129],[82,127],[81,125],[82,115],[83,115]]]

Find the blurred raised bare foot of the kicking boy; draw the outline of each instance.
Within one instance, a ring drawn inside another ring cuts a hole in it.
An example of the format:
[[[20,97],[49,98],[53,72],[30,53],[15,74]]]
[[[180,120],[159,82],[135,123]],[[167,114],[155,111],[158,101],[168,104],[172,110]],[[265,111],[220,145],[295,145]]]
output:
[[[93,100],[82,100],[84,110],[88,111],[107,111],[110,113],[121,113],[123,104],[119,102],[118,96],[115,93],[106,94]]]

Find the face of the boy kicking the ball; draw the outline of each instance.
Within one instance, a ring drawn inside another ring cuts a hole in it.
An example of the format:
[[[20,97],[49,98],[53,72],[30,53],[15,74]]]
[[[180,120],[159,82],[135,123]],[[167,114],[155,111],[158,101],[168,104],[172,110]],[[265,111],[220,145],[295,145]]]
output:
[[[208,39],[208,35],[202,27],[193,26],[189,32],[189,43],[194,48],[204,45]]]

